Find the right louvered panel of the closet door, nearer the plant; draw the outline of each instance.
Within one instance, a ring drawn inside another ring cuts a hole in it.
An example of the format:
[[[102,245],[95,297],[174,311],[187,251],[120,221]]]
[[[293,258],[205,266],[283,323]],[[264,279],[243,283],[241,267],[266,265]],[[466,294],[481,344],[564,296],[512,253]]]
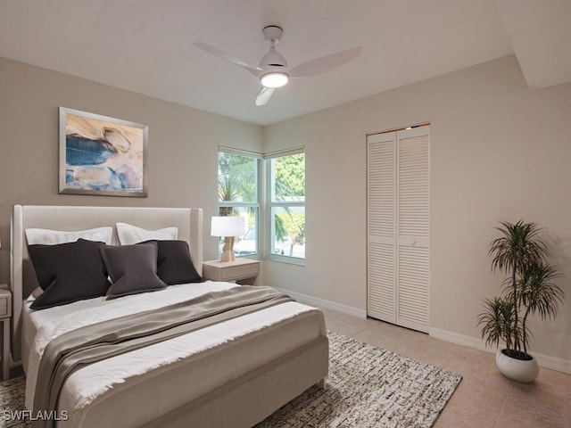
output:
[[[396,324],[428,333],[428,134],[397,134]]]

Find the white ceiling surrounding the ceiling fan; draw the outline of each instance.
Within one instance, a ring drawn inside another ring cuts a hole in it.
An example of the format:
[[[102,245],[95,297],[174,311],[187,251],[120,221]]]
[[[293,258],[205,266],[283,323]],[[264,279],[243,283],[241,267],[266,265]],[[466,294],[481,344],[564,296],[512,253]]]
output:
[[[569,22],[569,0],[0,0],[0,56],[268,125],[510,53],[532,88],[569,82]],[[192,43],[257,64],[269,24],[290,65],[362,52],[256,107],[260,82]]]

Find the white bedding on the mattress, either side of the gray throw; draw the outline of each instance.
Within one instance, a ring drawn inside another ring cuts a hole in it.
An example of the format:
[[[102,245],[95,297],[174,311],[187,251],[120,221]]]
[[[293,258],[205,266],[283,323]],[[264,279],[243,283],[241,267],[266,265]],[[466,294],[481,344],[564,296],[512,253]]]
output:
[[[26,406],[32,408],[43,350],[58,335],[234,286],[182,284],[161,292],[82,300],[38,311],[26,303],[22,318],[24,346],[29,346]],[[69,426],[137,426],[325,334],[319,309],[287,302],[87,366],[70,375],[59,408],[69,412],[65,423]],[[221,347],[228,351],[219,352]],[[135,384],[141,385],[137,391],[130,388]],[[112,420],[105,421],[108,415],[113,415]]]

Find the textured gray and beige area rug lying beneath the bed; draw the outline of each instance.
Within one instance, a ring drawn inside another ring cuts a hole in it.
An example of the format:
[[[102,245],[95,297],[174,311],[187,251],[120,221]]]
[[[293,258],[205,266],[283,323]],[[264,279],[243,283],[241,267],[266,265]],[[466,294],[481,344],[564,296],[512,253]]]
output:
[[[327,386],[314,386],[256,428],[428,428],[462,377],[367,343],[329,333]],[[23,377],[0,383],[0,427],[28,427],[6,417],[24,408]]]

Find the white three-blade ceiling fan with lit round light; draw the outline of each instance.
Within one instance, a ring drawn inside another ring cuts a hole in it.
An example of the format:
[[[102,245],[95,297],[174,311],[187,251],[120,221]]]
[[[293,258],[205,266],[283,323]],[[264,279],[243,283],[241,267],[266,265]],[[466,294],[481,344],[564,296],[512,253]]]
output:
[[[193,43],[194,46],[204,52],[211,53],[219,58],[239,65],[250,71],[261,81],[261,91],[256,97],[256,105],[265,105],[277,87],[284,86],[290,78],[310,78],[312,76],[334,70],[346,62],[357,58],[360,54],[360,47],[354,47],[346,51],[331,53],[330,55],[302,62],[295,67],[289,67],[284,55],[277,52],[276,44],[282,38],[284,30],[277,25],[269,25],[261,30],[264,38],[269,41],[269,51],[261,57],[260,65],[253,65],[246,60],[231,53],[219,50],[217,47],[207,45],[202,42]]]

